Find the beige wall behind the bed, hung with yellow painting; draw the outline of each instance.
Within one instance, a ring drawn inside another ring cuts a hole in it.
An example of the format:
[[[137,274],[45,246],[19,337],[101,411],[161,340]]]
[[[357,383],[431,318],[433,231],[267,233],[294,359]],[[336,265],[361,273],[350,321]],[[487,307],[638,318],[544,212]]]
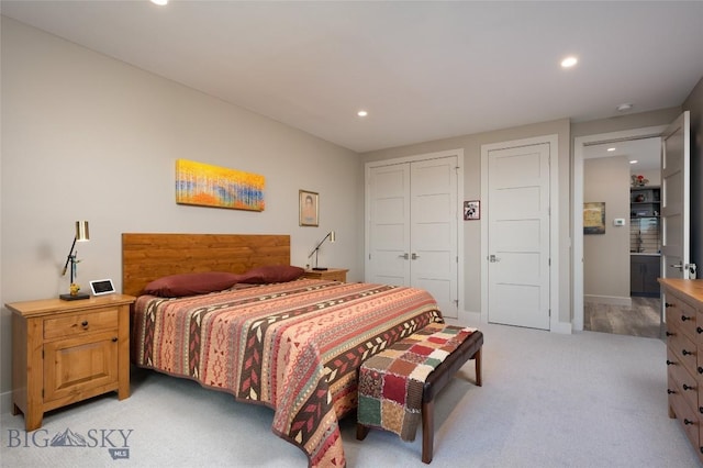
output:
[[[328,230],[325,265],[362,277],[359,156],[174,81],[2,18],[0,303],[55,297],[76,220],[90,221],[78,279],[121,288],[123,232],[290,234],[292,263]],[[266,177],[266,210],[178,205],[175,160]],[[320,193],[320,227],[298,225],[298,190]],[[2,308],[0,391],[11,388]]]

